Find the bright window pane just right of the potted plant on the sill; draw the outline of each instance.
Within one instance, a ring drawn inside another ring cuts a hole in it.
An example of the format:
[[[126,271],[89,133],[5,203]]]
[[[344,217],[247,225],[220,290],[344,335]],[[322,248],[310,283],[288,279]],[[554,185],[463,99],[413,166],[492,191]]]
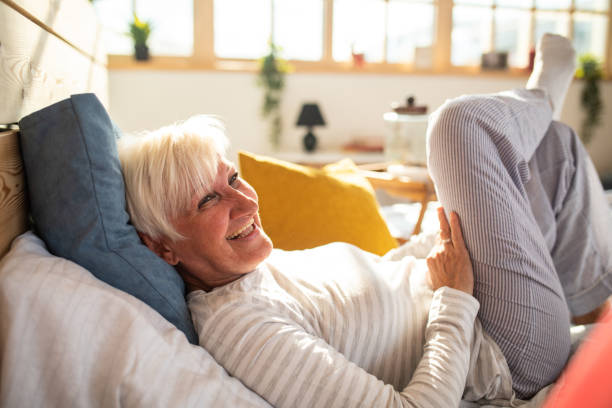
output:
[[[193,0],[140,0],[136,13],[151,22],[151,54],[193,54]]]

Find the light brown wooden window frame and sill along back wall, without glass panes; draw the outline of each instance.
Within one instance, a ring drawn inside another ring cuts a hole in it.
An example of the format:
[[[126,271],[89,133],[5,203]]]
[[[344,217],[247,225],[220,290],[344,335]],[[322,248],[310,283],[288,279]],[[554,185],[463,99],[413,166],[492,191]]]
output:
[[[216,57],[214,54],[214,0],[193,0],[193,54],[191,56],[152,56],[149,61],[135,61],[131,55],[108,56],[108,68],[111,70],[213,70],[256,72],[258,61],[252,59],[230,59]],[[451,36],[453,29],[453,0],[434,0],[434,43],[432,67],[419,69],[411,63],[367,62],[356,67],[350,61],[334,61],[332,58],[332,22],[334,0],[323,0],[323,53],[319,61],[290,60],[293,72],[306,73],[346,73],[346,74],[416,74],[416,75],[480,75],[487,77],[523,77],[529,73],[524,68],[510,67],[503,71],[483,71],[479,66],[453,66],[451,63]],[[575,0],[571,1],[569,10],[570,32],[573,32],[573,15],[582,13],[576,10]],[[496,6],[490,7],[495,10]],[[506,7],[504,7],[506,8]],[[527,10],[527,9],[524,9]],[[534,29],[535,6],[531,7],[532,33]],[[547,10],[548,11],[548,10]],[[553,10],[555,11],[555,10]],[[560,11],[560,10],[556,10]],[[609,0],[607,12],[594,12],[607,16],[607,33],[605,61],[603,64],[606,79],[612,78],[612,0]],[[493,19],[494,20],[494,19]],[[492,24],[495,24],[494,21]],[[494,27],[493,27],[494,28]],[[492,36],[494,32],[492,31]],[[386,43],[386,40],[385,40]]]

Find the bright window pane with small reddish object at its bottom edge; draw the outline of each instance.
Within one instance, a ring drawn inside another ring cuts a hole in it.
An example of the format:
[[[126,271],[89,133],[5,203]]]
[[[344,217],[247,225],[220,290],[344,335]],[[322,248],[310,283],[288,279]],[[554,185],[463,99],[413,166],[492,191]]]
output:
[[[365,53],[366,61],[382,61],[384,0],[335,0],[333,31],[332,53],[336,61],[350,61],[351,49]]]

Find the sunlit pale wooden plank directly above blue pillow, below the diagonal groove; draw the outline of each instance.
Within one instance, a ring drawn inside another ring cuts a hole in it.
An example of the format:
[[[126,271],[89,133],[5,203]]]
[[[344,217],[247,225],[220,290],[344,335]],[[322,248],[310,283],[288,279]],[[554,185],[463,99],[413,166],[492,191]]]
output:
[[[0,124],[17,122],[25,115],[75,93],[95,92],[107,106],[106,67],[76,51],[2,1]],[[76,16],[74,18],[78,21]],[[90,21],[90,24],[89,29],[95,31],[97,21]],[[87,27],[81,27],[81,30],[87,32]]]

